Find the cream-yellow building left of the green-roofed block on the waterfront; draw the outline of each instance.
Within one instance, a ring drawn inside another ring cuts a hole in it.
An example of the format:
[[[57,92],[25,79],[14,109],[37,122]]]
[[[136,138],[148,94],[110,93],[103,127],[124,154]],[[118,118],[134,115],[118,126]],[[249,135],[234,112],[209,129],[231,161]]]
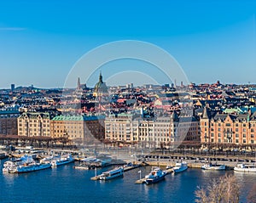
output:
[[[18,135],[50,137],[49,113],[25,112],[18,117]]]

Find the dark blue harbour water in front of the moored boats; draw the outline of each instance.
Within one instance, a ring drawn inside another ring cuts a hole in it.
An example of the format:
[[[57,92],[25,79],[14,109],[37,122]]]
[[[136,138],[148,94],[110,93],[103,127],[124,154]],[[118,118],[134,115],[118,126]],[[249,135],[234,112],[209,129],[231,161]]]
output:
[[[23,174],[2,174],[0,172],[0,202],[195,202],[195,189],[205,186],[212,178],[225,173],[234,173],[241,183],[241,202],[253,183],[256,173],[209,172],[201,169],[188,169],[176,175],[166,176],[166,180],[153,185],[136,184],[139,170],[142,176],[150,172],[151,167],[142,167],[125,172],[124,178],[104,181],[92,181],[95,171],[73,168],[73,164],[46,169],[44,171]],[[109,168],[108,168],[109,169]],[[97,172],[106,171],[107,168]]]

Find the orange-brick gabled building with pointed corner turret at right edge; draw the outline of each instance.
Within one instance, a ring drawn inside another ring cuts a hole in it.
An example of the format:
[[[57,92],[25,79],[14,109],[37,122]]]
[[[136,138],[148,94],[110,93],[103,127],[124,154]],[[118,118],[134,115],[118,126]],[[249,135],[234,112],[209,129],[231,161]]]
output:
[[[206,144],[256,144],[256,113],[213,114],[205,107],[201,117],[201,142]]]

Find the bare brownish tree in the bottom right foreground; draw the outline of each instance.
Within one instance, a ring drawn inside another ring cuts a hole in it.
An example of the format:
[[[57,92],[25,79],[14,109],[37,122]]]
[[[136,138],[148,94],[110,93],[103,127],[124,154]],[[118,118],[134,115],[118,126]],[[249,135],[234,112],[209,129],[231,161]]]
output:
[[[224,176],[213,179],[207,189],[198,188],[195,191],[198,203],[238,203],[240,186],[234,176]]]

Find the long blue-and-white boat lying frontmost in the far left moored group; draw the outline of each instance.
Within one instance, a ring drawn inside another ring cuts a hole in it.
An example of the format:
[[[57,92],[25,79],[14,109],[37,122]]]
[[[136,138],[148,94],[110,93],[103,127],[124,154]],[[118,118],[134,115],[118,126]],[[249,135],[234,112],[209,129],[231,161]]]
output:
[[[50,163],[37,163],[34,161],[32,163],[26,163],[20,166],[16,166],[15,170],[10,171],[10,173],[35,172],[50,167]]]

